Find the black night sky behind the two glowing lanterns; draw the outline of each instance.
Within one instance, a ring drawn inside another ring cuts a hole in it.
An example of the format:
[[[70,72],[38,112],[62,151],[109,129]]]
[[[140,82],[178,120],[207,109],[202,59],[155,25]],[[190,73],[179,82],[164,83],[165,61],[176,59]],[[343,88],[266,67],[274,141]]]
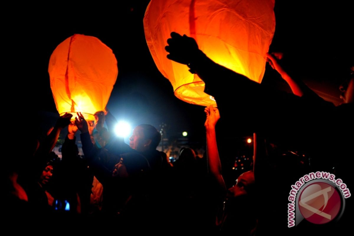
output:
[[[107,105],[117,119],[125,119],[133,127],[150,123],[159,128],[164,122],[170,136],[185,130],[191,137],[204,136],[204,107],[177,99],[150,55],[143,30],[149,1],[127,2],[8,7],[3,21],[3,49],[8,53],[4,88],[15,94],[8,99],[8,110],[26,116],[37,112],[58,116],[47,72],[49,58],[62,41],[85,34],[100,39],[117,58],[118,79]],[[338,4],[276,2],[276,29],[270,47],[270,51],[284,52],[293,71],[336,104],[343,71],[354,55],[349,36],[353,33],[352,4]],[[268,65],[263,82],[290,91]]]

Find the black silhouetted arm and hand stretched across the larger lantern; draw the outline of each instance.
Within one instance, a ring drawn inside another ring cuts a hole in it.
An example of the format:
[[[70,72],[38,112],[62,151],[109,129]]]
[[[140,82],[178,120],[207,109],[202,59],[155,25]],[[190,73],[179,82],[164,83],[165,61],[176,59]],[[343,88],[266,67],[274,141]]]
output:
[[[233,105],[247,114],[240,132],[246,129],[247,132],[272,130],[274,135],[286,136],[289,134],[286,130],[293,129],[302,137],[308,132],[309,124],[316,125],[318,114],[328,107],[323,99],[317,99],[318,96],[298,97],[269,88],[213,62],[199,50],[195,40],[186,35],[172,32],[167,44],[167,58],[188,65],[192,73],[198,74],[205,82],[205,92],[215,98],[225,119],[233,122],[233,110],[230,109]],[[293,139],[289,135],[287,138]]]

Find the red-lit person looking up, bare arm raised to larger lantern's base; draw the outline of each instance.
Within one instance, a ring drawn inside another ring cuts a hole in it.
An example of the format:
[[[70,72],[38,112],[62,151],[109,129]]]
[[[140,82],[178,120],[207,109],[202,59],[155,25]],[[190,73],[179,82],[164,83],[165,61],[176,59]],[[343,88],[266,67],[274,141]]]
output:
[[[205,129],[207,140],[207,161],[210,174],[217,183],[218,212],[216,226],[223,234],[237,232],[238,235],[251,235],[256,226],[255,176],[253,171],[242,173],[236,184],[227,189],[222,175],[221,162],[216,142],[215,125],[220,118],[217,108],[206,107]]]

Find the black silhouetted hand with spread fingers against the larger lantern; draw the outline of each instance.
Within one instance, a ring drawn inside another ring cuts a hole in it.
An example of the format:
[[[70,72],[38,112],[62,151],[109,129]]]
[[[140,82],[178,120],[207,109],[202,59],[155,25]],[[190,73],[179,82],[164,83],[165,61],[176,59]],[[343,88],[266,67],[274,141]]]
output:
[[[170,53],[167,54],[167,58],[185,65],[193,62],[194,57],[200,51],[195,39],[185,34],[181,36],[176,32],[171,33],[171,38],[167,39],[167,44],[165,50]]]

